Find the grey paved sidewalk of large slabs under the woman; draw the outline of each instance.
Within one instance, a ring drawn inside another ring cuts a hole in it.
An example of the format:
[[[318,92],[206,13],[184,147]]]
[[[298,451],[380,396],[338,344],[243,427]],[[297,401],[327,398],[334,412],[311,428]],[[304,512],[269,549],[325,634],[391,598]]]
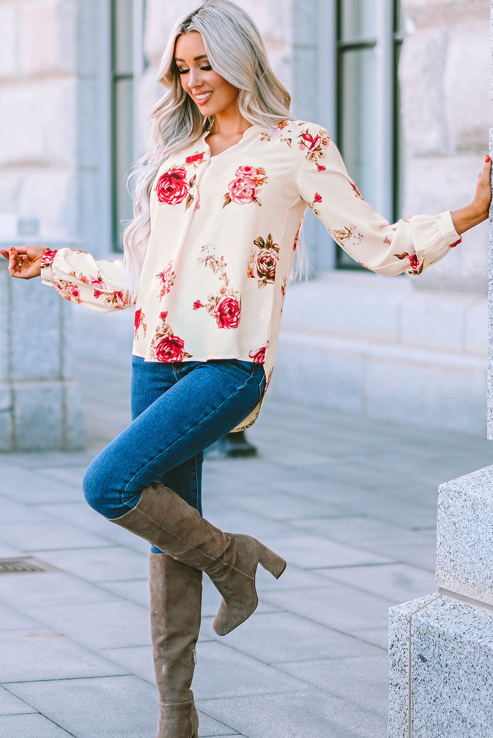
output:
[[[128,373],[79,373],[89,449],[0,457],[0,557],[58,568],[0,576],[6,738],[154,736],[148,547],[81,499],[86,463],[128,421]],[[493,446],[269,400],[248,437],[260,458],[205,464],[205,515],[288,570],[260,571],[258,610],[225,638],[205,587],[199,735],[384,738],[387,610],[435,589],[438,483],[492,463]]]

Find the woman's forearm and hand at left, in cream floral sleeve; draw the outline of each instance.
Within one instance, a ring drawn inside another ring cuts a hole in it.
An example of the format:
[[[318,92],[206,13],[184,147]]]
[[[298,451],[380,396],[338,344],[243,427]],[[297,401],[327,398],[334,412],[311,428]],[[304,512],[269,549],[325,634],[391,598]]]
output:
[[[44,249],[42,246],[0,249],[9,259],[12,277],[41,276],[62,297],[92,310],[108,312],[129,307],[133,301],[124,289],[123,261],[95,261],[86,251]]]

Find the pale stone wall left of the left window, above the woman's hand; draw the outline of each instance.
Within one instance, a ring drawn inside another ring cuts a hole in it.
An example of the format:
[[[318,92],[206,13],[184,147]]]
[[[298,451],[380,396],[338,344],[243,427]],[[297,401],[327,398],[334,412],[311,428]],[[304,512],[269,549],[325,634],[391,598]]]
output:
[[[100,79],[106,6],[0,2],[0,212],[36,218],[33,237],[76,235],[96,252],[109,247],[101,185],[109,161]]]

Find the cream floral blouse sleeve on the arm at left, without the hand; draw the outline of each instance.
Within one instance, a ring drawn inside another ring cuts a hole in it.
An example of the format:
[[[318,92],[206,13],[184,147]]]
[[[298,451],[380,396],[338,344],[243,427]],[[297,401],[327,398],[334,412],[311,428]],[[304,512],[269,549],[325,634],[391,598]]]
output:
[[[123,286],[123,261],[95,261],[86,251],[46,249],[41,281],[73,303],[109,312],[132,305]]]

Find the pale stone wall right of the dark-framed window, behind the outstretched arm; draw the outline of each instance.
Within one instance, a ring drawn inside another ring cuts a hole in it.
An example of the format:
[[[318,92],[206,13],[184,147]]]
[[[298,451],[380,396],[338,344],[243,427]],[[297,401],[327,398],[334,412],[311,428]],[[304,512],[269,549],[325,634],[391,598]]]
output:
[[[403,215],[468,204],[488,152],[489,0],[402,0],[400,64],[404,128]],[[487,226],[429,269],[417,289],[487,289]]]

